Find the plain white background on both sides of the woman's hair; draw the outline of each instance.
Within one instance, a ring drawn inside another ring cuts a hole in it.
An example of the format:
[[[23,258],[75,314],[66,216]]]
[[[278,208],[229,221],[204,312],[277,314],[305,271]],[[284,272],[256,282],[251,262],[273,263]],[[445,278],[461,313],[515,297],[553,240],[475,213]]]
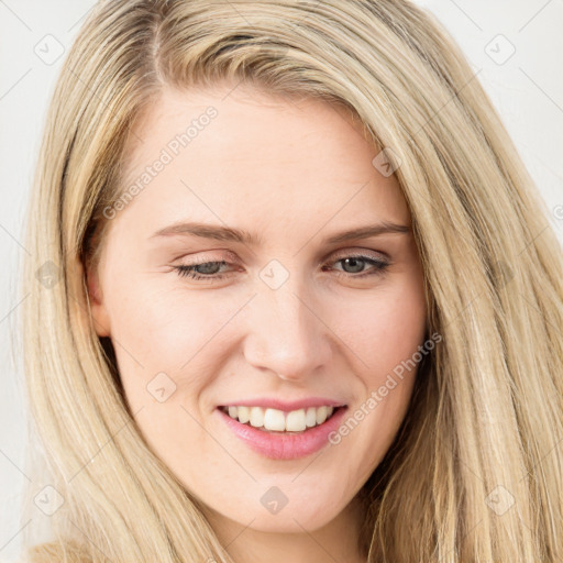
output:
[[[563,1],[418,3],[445,24],[473,69],[479,70],[478,79],[538,183],[563,241],[563,214],[555,212],[563,205]],[[19,261],[27,252],[22,235],[25,203],[46,103],[64,58],[45,62],[37,53],[47,49],[46,42],[49,53],[56,53],[55,40],[47,35],[68,47],[92,5],[92,0],[0,0],[0,561],[19,553],[21,530],[27,525],[19,516],[21,487],[27,479],[25,406],[18,369],[21,353],[12,334],[21,302]],[[512,48],[512,56],[499,64]]]

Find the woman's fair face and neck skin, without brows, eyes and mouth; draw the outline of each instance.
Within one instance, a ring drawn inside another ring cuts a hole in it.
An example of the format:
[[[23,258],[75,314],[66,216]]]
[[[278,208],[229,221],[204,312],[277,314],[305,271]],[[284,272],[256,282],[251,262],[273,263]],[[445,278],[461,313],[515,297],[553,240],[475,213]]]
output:
[[[147,444],[200,500],[235,561],[365,561],[357,493],[397,433],[416,369],[339,444],[292,461],[250,450],[216,408],[321,396],[353,413],[412,356],[427,319],[412,233],[325,242],[383,220],[410,225],[409,210],[342,108],[250,86],[165,90],[136,124],[128,181],[209,106],[218,117],[110,221],[99,266],[88,271],[97,332],[112,340]],[[151,238],[188,220],[245,229],[261,242]],[[346,266],[354,252],[390,264],[383,273],[369,262]],[[222,260],[214,282],[175,269]],[[276,289],[260,277],[272,260],[289,275]],[[147,385],[163,372],[176,389],[161,402]],[[277,514],[261,503],[272,486],[288,498]]]

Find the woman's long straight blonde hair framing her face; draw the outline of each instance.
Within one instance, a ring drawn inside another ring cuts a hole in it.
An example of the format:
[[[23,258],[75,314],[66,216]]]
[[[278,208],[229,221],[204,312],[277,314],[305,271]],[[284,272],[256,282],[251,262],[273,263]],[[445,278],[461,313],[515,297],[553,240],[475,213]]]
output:
[[[561,247],[462,52],[399,0],[112,0],[89,14],[56,84],[29,213],[27,400],[65,499],[31,560],[232,561],[141,438],[85,282],[135,119],[163,85],[219,81],[343,103],[398,165],[429,332],[443,340],[362,488],[368,561],[563,561]]]

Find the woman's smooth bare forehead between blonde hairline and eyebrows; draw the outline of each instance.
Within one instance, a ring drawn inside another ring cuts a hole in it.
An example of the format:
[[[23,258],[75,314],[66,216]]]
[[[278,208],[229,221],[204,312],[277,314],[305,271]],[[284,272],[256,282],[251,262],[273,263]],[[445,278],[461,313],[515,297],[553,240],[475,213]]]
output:
[[[121,189],[144,176],[131,206],[139,212],[214,222],[243,213],[284,224],[336,214],[349,222],[409,219],[395,176],[374,166],[379,150],[358,120],[320,99],[246,85],[166,89],[131,140]]]

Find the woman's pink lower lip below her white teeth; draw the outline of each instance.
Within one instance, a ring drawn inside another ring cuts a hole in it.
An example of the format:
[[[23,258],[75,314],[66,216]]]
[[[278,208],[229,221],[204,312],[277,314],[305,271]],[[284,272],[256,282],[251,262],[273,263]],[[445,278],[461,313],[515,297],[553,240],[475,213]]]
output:
[[[216,409],[232,432],[253,451],[272,460],[297,460],[318,452],[329,443],[329,435],[341,426],[347,407],[340,407],[322,424],[299,433],[258,430],[234,420],[221,409]]]

